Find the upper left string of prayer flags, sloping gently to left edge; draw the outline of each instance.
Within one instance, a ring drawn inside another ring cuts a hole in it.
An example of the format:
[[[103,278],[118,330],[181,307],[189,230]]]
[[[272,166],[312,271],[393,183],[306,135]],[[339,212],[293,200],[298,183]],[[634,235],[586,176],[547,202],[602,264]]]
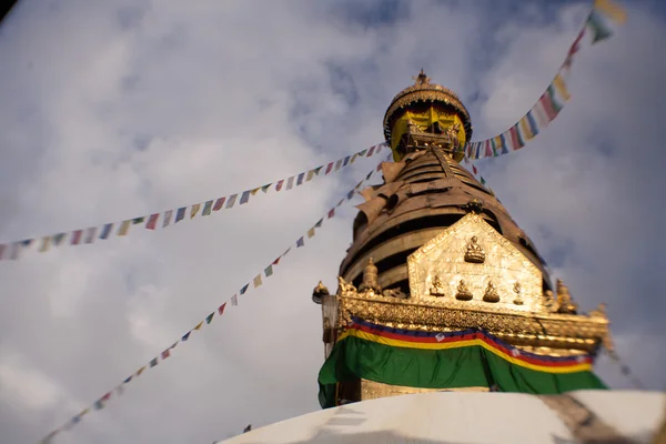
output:
[[[370,149],[362,150],[357,153],[346,155],[337,161],[330,162],[326,169],[324,170],[326,174],[330,174],[333,171],[333,165],[335,164],[335,171],[340,168],[345,167],[350,163],[353,163],[352,160],[357,159],[359,157],[370,158],[375,153],[379,153],[382,147],[385,143],[380,143]],[[311,170],[301,172],[299,174],[292,175],[287,179],[281,179],[275,184],[275,191],[279,192],[284,189],[284,183],[286,181],[286,190],[291,190],[294,188],[294,180],[296,181],[295,186],[302,185],[304,182],[309,182],[315,175],[320,175],[320,172],[324,169],[324,165],[320,165],[313,168]],[[41,239],[40,246],[38,249],[39,252],[46,253],[50,251],[53,246],[59,246],[63,243],[65,238],[69,239],[70,245],[80,245],[81,243],[93,243],[95,240],[107,240],[110,238],[111,233],[114,229],[117,229],[115,234],[119,236],[124,236],[129,233],[130,228],[133,225],[143,224],[147,230],[157,230],[160,226],[160,219],[162,219],[161,228],[165,229],[171,225],[173,213],[175,212],[175,219],[173,220],[173,224],[176,224],[186,219],[194,219],[196,215],[201,214],[202,216],[211,215],[213,212],[218,212],[222,209],[231,209],[234,206],[236,200],[240,200],[240,204],[246,204],[250,199],[259,192],[259,190],[268,193],[272,188],[273,182],[266,183],[262,186],[256,186],[250,190],[245,190],[241,193],[234,193],[229,196],[210,199],[202,203],[194,203],[186,206],[181,206],[179,209],[167,210],[160,213],[152,213],[150,215],[139,216],[128,219],[121,222],[110,222],[102,224],[99,230],[98,226],[91,226],[88,229],[79,229],[73,230],[69,233],[57,233],[47,236],[40,236],[37,239]],[[189,218],[188,218],[189,216]],[[99,233],[99,235],[98,235]],[[69,236],[68,236],[69,235]],[[20,258],[20,253],[23,249],[29,248],[33,242],[32,239],[27,239],[23,241],[9,242],[4,244],[0,244],[0,261],[1,260],[18,260]],[[34,242],[37,244],[37,242]]]

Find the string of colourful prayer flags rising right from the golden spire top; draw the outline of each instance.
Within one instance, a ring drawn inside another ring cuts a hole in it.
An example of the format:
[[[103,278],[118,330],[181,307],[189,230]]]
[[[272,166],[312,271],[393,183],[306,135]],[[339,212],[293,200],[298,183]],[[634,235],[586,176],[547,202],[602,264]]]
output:
[[[626,21],[626,12],[610,0],[595,0],[592,11],[585,20],[583,29],[571,46],[566,59],[555,78],[532,107],[513,127],[494,138],[468,142],[464,155],[468,159],[495,158],[517,151],[542,132],[559,114],[564,104],[571,99],[565,79],[569,74],[574,56],[581,50],[581,43],[588,37],[593,46],[613,36],[613,24]]]

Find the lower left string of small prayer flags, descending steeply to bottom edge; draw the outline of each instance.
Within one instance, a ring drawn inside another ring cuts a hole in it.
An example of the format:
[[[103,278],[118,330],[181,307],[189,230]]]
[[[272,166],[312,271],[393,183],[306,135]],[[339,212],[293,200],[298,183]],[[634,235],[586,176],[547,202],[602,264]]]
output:
[[[367,174],[365,176],[364,180],[362,180],[359,184],[356,184],[354,186],[354,189],[352,189],[350,191],[351,195],[353,196],[359,189],[361,188],[361,185],[366,182],[367,180],[370,180],[373,175],[373,173],[375,172],[375,170],[373,169],[370,174]],[[349,196],[350,193],[346,193],[346,195]],[[351,198],[349,198],[351,199]],[[335,214],[334,210],[336,208],[339,208],[340,205],[342,205],[345,201],[347,201],[349,199],[341,199],[340,202],[337,202],[337,204],[332,208],[331,210],[327,211],[327,219],[331,219],[333,216],[333,214]],[[323,221],[325,218],[321,218],[320,220],[317,220],[315,222],[315,224],[307,230],[307,233],[312,232],[314,235],[314,231],[316,229],[321,229],[323,225]],[[310,236],[310,235],[309,235]],[[312,236],[310,236],[312,238]],[[299,240],[296,241],[296,246],[304,246],[304,236],[299,238]],[[293,245],[292,245],[293,246]],[[259,286],[262,285],[262,275],[264,275],[265,278],[270,278],[273,275],[274,273],[274,268],[280,263],[280,260],[283,259],[291,250],[292,246],[290,246],[289,249],[286,249],[284,251],[284,253],[282,253],[280,256],[278,256],[278,259],[275,259],[269,266],[266,266],[262,273],[259,273],[256,276],[254,276],[254,279],[252,280],[252,287],[256,289]],[[248,290],[250,289],[250,283],[246,283],[245,285],[243,285],[241,287],[241,290],[239,291],[239,293],[234,293],[233,296],[231,296],[231,305],[232,306],[238,306],[239,305],[239,294],[243,295],[248,292]],[[155,366],[159,365],[159,363],[161,361],[164,361],[165,359],[170,357],[173,349],[175,349],[175,346],[179,343],[184,343],[188,342],[191,339],[192,332],[194,331],[199,331],[205,325],[210,325],[211,322],[213,322],[213,319],[215,317],[215,313],[218,313],[218,316],[221,316],[222,314],[224,314],[224,311],[226,309],[226,302],[222,303],[222,305],[220,305],[218,309],[213,310],[208,316],[205,316],[205,319],[201,322],[199,322],[194,327],[192,327],[189,332],[186,332],[185,334],[183,334],[178,341],[175,341],[170,347],[163,350],[158,356],[153,357],[152,360],[150,360],[150,362],[147,365],[143,365],[142,367],[140,367],[137,372],[132,373],[130,376],[125,377],[123,380],[122,383],[120,383],[119,385],[115,386],[115,389],[111,392],[107,392],[102,397],[98,398],[94,403],[92,403],[91,406],[84,408],[83,411],[81,411],[79,414],[77,414],[75,416],[73,416],[67,424],[58,427],[57,430],[52,431],[51,433],[49,433],[49,435],[47,435],[43,440],[43,442],[49,442],[50,440],[52,440],[58,433],[60,432],[64,432],[70,430],[72,426],[74,426],[75,424],[80,423],[81,420],[83,418],[83,416],[89,413],[91,410],[102,410],[105,406],[105,402],[108,402],[111,396],[112,393],[115,392],[117,396],[119,396],[120,394],[123,393],[123,386],[129,384],[131,381],[135,381],[137,377],[139,377],[147,369],[153,369]]]

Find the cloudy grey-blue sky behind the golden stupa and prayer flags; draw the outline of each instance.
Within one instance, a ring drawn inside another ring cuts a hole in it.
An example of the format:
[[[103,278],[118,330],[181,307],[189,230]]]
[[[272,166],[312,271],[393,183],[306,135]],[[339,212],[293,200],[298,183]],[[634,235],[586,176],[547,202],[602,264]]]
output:
[[[478,168],[620,356],[666,385],[666,13],[632,1],[576,60],[573,100]],[[0,28],[0,243],[274,182],[382,141],[424,68],[495,135],[538,99],[581,1],[22,0]],[[662,8],[662,9],[659,9]],[[270,264],[379,158],[154,232],[0,263],[0,441],[36,442],[112,390]],[[356,198],[357,199],[357,198]],[[58,443],[201,442],[319,408],[323,280],[354,212],[324,223],[172,357]],[[615,389],[630,383],[602,359]]]

